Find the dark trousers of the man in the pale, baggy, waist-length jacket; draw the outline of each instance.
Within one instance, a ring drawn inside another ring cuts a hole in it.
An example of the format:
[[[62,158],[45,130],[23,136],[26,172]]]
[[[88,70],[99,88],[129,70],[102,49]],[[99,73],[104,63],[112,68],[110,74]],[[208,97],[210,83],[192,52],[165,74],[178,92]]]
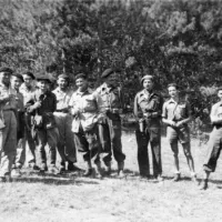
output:
[[[94,125],[93,129],[84,132],[80,128],[78,133],[74,133],[74,143],[79,152],[83,153],[84,161],[91,159],[94,160],[94,163],[100,161],[101,144],[99,140],[98,125]]]

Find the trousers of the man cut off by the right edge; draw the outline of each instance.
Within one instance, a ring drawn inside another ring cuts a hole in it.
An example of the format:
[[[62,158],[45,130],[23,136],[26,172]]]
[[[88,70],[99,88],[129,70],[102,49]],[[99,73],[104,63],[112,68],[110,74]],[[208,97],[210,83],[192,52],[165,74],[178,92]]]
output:
[[[209,172],[214,172],[222,149],[222,128],[216,129],[214,127],[208,148],[208,155],[203,169]]]

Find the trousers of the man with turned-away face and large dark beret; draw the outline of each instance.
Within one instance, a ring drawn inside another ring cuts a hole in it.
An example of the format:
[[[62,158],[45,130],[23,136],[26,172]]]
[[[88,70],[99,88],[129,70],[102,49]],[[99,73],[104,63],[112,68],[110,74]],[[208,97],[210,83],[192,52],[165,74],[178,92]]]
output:
[[[118,163],[124,162],[125,154],[122,152],[120,118],[117,118],[117,120],[107,118],[103,123],[99,124],[99,134],[104,164],[108,165],[112,161],[112,150],[115,161]]]

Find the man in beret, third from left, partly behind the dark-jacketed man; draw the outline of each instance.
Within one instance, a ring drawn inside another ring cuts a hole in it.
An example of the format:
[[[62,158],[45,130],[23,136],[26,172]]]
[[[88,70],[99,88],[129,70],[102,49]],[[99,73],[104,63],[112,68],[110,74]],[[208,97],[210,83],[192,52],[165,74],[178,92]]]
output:
[[[30,99],[31,94],[36,91],[36,87],[33,85],[34,75],[32,72],[26,72],[23,75],[23,83],[20,87],[20,92],[23,95],[24,107],[27,105],[27,101]],[[17,161],[16,168],[20,169],[24,164],[26,158],[29,167],[32,170],[38,170],[39,168],[36,164],[36,144],[34,140],[31,135],[31,115],[28,112],[24,112],[24,137],[22,138],[22,142],[17,149]],[[28,150],[26,149],[28,148]],[[27,157],[26,157],[26,151]]]

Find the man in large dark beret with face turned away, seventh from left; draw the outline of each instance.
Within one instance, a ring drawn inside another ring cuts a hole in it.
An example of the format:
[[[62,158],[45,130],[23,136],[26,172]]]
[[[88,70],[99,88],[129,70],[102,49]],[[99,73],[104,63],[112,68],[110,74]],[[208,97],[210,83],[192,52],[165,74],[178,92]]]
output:
[[[102,144],[103,162],[105,164],[107,174],[111,173],[112,150],[115,161],[118,162],[118,174],[124,176],[124,159],[121,142],[121,118],[123,110],[123,95],[119,83],[119,70],[107,69],[101,78],[103,84],[97,89],[98,105],[101,113],[105,118],[99,123],[99,133]]]

